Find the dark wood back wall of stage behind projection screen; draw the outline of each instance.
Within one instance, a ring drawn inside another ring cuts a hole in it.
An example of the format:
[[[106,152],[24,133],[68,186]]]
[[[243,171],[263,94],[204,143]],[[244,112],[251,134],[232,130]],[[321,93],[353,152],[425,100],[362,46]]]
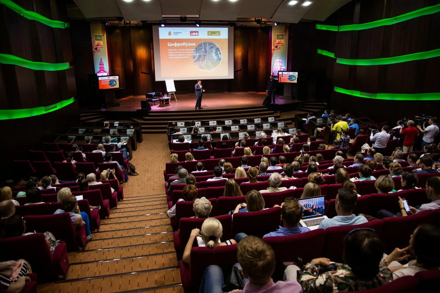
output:
[[[87,99],[87,74],[93,73],[92,61],[84,62],[90,54],[88,22],[71,25],[75,44],[73,63],[77,75],[78,96]],[[153,33],[151,26],[108,26],[107,46],[111,74],[119,74],[125,95],[144,95],[148,92],[165,93],[164,81],[155,81]],[[265,91],[269,70],[269,28],[236,27],[234,32],[234,79],[203,80],[207,92]],[[89,63],[91,66],[81,65]],[[81,70],[79,70],[81,68]],[[143,73],[144,72],[144,73]],[[175,81],[178,94],[194,92],[195,80]]]

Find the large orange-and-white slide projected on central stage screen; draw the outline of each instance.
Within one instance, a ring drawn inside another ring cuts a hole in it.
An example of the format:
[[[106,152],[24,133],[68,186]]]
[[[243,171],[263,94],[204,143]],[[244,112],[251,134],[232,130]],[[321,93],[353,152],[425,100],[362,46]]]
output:
[[[156,25],[153,46],[156,80],[234,78],[232,27]]]

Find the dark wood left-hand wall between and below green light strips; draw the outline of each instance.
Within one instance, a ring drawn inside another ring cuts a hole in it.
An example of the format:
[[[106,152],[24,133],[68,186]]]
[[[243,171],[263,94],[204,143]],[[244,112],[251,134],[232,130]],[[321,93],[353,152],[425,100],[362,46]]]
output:
[[[67,22],[67,14],[55,0],[15,0],[26,10],[47,18]],[[62,63],[72,61],[70,29],[54,29],[28,20],[0,5],[0,53],[31,61]],[[26,109],[53,105],[76,95],[75,69],[40,71],[0,64],[0,109]],[[4,134],[2,166],[12,159],[24,159],[27,150],[43,141],[54,141],[55,134],[79,121],[77,103],[48,114],[21,119],[0,120]],[[5,171],[3,168],[1,178]]]

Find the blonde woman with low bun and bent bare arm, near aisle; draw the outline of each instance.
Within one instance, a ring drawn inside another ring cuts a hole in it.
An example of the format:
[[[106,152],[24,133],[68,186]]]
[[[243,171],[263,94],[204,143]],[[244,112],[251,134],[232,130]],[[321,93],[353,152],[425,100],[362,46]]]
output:
[[[207,218],[205,221],[203,221],[201,230],[195,228],[191,231],[190,238],[188,239],[185,250],[183,251],[183,262],[185,264],[191,263],[191,248],[193,246],[194,240],[197,240],[197,244],[199,247],[207,247],[209,249],[213,249],[217,246],[226,246],[237,243],[234,239],[220,242],[222,234],[223,227],[220,221],[216,218]]]

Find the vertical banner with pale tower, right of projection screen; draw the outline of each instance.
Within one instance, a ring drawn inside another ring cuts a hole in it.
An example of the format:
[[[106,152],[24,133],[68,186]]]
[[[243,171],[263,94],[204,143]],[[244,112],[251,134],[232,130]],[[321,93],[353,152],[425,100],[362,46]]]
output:
[[[271,29],[271,75],[278,79],[278,71],[287,70],[287,25],[272,26]]]

